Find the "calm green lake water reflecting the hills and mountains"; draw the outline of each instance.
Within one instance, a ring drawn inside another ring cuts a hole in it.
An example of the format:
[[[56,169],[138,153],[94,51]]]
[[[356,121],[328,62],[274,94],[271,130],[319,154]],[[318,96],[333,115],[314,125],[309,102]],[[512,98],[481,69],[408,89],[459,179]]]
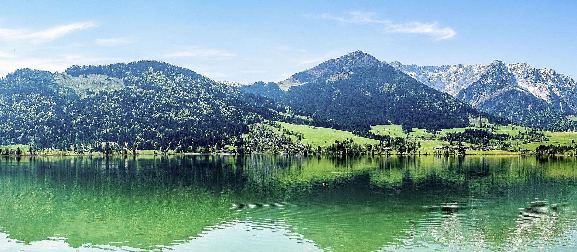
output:
[[[577,251],[576,164],[1,157],[0,251]]]

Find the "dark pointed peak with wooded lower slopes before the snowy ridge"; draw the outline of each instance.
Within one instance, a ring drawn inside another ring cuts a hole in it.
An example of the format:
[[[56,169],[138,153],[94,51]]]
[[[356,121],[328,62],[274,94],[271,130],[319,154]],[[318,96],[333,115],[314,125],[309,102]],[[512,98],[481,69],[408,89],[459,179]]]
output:
[[[481,78],[461,90],[456,97],[485,112],[506,117],[520,125],[549,129],[575,129],[574,121],[566,119],[565,114],[554,109],[544,100],[552,96],[552,93],[545,92],[548,89],[519,84],[524,82],[516,75],[519,76],[519,72],[526,73],[526,71],[516,72],[517,74],[500,60],[495,60]],[[525,79],[531,77],[531,75],[524,76]],[[537,97],[531,91],[541,93],[543,96]]]

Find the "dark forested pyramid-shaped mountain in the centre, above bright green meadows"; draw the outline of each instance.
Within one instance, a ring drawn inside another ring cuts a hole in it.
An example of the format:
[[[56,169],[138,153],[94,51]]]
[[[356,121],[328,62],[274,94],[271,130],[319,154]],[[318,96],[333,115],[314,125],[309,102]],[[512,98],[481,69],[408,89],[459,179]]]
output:
[[[361,51],[328,60],[282,83],[290,83],[283,102],[291,109],[313,119],[332,119],[351,131],[388,120],[427,129],[466,127],[471,116],[509,123]]]

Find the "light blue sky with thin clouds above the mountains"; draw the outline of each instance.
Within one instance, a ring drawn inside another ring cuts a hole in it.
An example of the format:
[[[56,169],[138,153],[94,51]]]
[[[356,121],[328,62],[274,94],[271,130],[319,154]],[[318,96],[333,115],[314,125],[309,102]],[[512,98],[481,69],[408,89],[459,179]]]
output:
[[[162,60],[217,81],[278,82],[361,50],[403,64],[501,59],[577,78],[576,7],[571,1],[7,1],[0,9],[0,75]]]

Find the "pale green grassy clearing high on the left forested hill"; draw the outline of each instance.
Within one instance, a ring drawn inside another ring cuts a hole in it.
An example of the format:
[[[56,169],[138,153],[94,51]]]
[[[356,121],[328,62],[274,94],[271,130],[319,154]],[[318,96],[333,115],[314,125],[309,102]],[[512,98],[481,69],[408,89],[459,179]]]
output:
[[[62,78],[62,74],[65,78]],[[122,79],[115,77],[107,77],[102,74],[89,74],[88,78],[84,78],[83,75],[78,77],[72,77],[65,73],[59,73],[54,75],[56,82],[62,86],[72,87],[74,92],[76,92],[81,98],[87,97],[86,89],[92,89],[95,92],[100,90],[114,90],[123,89],[126,86],[122,83]]]

